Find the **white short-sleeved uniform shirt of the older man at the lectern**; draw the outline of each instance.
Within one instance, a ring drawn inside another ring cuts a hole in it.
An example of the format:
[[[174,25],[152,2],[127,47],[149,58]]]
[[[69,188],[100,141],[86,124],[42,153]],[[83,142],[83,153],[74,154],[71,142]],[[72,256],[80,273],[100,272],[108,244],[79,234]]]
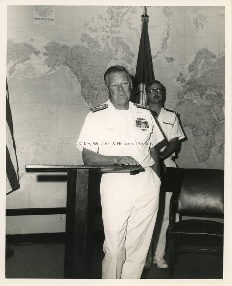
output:
[[[143,168],[151,167],[154,160],[149,149],[163,135],[150,111],[129,102],[122,116],[123,111],[115,109],[110,100],[105,104],[108,108],[87,115],[76,146],[105,156],[132,156]]]

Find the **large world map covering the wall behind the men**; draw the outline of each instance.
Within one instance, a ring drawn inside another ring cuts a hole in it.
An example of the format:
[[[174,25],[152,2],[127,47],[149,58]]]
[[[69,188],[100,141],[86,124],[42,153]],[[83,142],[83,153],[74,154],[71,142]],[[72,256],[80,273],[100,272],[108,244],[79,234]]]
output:
[[[35,10],[54,25],[33,24]],[[89,108],[111,65],[134,76],[142,6],[8,6],[7,71],[20,176],[25,164],[82,164]],[[155,78],[186,135],[179,167],[224,169],[224,8],[147,8]]]

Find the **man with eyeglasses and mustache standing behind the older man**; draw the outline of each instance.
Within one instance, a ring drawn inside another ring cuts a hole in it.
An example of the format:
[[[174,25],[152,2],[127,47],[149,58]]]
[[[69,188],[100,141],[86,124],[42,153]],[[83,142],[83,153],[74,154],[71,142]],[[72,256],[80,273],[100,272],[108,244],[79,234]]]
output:
[[[167,145],[162,145],[162,141],[156,145],[160,159],[166,167],[176,168],[173,161],[175,150],[178,141],[185,137],[178,121],[177,112],[170,111],[162,107],[166,96],[163,85],[157,81],[152,80],[146,85],[147,104],[149,105],[153,117],[159,122],[163,133],[168,141]],[[167,142],[166,141],[166,142]],[[165,196],[165,198],[163,197]],[[169,225],[169,203],[172,193],[160,193],[159,211],[156,218],[156,225],[153,233],[153,238],[147,253],[147,260],[144,269],[151,269],[152,262],[152,248],[154,251],[153,263],[158,268],[168,268],[167,262],[164,260],[165,246],[166,246],[166,231]]]

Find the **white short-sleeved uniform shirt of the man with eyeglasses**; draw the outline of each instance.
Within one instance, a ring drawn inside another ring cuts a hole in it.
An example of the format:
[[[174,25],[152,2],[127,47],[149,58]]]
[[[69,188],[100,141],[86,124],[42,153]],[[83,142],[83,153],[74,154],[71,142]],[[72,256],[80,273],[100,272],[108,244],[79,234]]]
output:
[[[178,120],[176,113],[168,111],[162,107],[157,120],[158,120],[160,127],[162,128],[163,133],[165,134],[168,142],[172,138],[178,137],[178,139],[180,140],[180,139],[183,139],[185,137],[185,135],[184,135],[184,133],[180,127],[179,120]],[[160,152],[162,152],[165,148],[166,148],[166,146],[164,146],[160,150]],[[174,156],[175,156],[175,153],[172,154],[172,157],[174,157]]]

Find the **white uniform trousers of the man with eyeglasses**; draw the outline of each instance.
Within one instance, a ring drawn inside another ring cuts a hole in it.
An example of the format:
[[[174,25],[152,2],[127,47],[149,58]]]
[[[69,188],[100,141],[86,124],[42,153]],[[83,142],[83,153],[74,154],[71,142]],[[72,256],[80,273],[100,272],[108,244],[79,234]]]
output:
[[[172,156],[164,160],[166,167],[176,168]],[[152,256],[152,249],[154,255],[163,257],[165,255],[166,246],[166,232],[169,225],[169,205],[172,193],[160,193],[159,196],[159,210],[156,218],[156,224],[153,232],[153,238],[147,253],[147,257]]]

